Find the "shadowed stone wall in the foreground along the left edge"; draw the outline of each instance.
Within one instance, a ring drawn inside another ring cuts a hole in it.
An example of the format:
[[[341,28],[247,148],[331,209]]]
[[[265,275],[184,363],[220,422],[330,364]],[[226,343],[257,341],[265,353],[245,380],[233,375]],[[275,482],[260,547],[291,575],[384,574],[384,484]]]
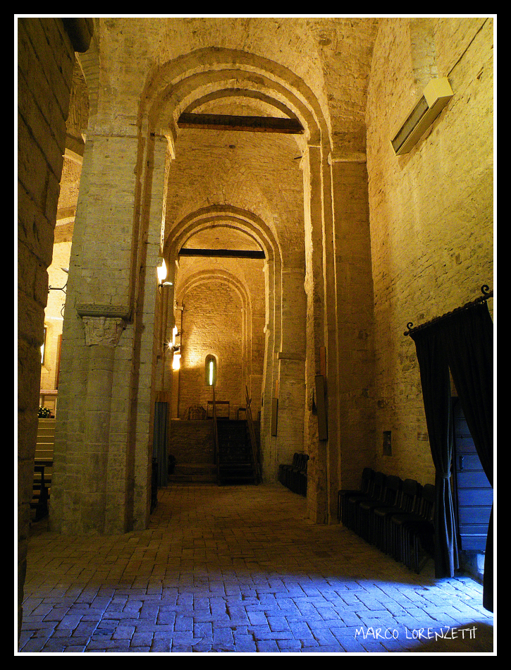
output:
[[[81,19],[68,20],[67,30],[61,19],[18,19],[18,623],[37,436],[47,267],[53,252],[74,51],[87,49],[92,25]]]

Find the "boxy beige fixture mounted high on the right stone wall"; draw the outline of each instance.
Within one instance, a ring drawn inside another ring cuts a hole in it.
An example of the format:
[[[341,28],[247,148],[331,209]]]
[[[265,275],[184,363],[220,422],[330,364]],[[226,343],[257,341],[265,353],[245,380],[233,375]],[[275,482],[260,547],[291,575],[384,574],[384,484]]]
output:
[[[447,77],[432,79],[429,82],[421,99],[414,106],[410,116],[392,140],[392,146],[397,156],[407,154],[412,150],[445,105],[448,104],[452,95],[452,88]]]

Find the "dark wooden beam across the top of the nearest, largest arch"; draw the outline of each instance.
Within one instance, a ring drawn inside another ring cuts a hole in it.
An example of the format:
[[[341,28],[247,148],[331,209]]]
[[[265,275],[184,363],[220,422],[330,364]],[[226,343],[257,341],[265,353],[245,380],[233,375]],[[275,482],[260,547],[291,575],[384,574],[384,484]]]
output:
[[[302,124],[297,118],[276,116],[231,116],[230,114],[189,114],[178,118],[178,128],[205,130],[245,130],[252,133],[287,133],[301,135]]]

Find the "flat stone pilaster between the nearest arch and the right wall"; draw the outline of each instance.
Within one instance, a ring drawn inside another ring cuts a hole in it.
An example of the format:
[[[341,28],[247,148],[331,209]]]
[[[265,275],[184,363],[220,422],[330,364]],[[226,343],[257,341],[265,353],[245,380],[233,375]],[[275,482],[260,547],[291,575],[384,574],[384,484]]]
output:
[[[364,155],[333,154],[338,306],[338,487],[357,487],[374,454],[374,340],[368,178]]]

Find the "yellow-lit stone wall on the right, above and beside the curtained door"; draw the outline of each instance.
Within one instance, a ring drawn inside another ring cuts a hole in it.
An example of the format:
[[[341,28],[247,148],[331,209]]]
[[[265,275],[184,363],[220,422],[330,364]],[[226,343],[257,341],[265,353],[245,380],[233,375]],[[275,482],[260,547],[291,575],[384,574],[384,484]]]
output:
[[[381,21],[367,104],[378,468],[433,482],[414,343],[403,336],[493,287],[493,21]],[[424,40],[421,44],[420,40]],[[434,47],[434,49],[433,49]],[[408,154],[390,140],[425,79],[454,95]],[[490,300],[490,307],[493,300]],[[383,455],[383,431],[392,455]]]

